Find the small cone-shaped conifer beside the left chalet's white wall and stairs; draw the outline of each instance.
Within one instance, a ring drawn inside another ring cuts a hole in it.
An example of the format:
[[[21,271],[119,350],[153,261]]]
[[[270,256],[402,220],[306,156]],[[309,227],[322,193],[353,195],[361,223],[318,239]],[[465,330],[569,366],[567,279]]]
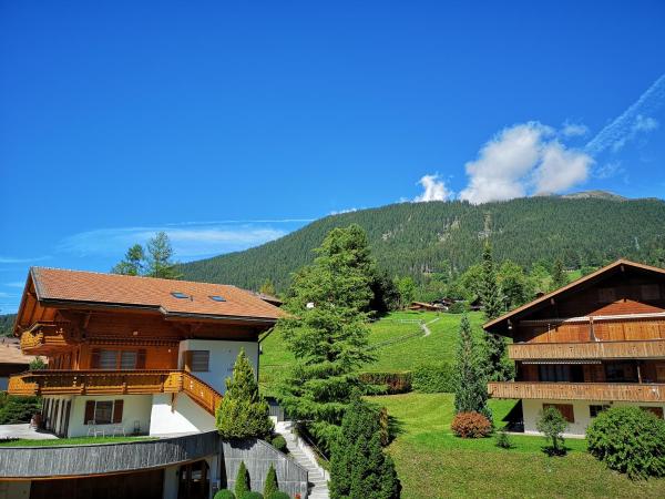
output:
[[[254,369],[241,350],[226,379],[226,393],[216,413],[216,426],[223,439],[264,438],[273,431],[268,404],[258,394]]]

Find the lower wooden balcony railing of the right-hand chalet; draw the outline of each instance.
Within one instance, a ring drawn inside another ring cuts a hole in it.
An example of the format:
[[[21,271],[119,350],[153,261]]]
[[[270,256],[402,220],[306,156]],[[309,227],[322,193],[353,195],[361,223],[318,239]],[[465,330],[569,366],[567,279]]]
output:
[[[665,384],[502,381],[489,383],[488,390],[494,398],[665,401]]]

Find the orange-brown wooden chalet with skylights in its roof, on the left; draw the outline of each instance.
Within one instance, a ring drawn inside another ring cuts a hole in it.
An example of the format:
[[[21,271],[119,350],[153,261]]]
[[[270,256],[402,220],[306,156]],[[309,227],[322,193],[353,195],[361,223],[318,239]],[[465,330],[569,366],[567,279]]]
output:
[[[59,435],[66,435],[75,400],[50,400],[51,396],[185,393],[213,415],[235,358],[217,361],[216,353],[231,352],[224,349],[231,342],[258,350],[258,335],[280,314],[234,286],[32,267],[14,335],[24,354],[45,356],[49,368],[12,376],[8,390],[44,396],[44,418]],[[191,349],[192,345],[219,348]],[[215,363],[225,363],[224,370],[206,379],[215,373]],[[95,418],[94,404],[112,410],[108,422],[122,419],[123,399],[109,406],[112,409],[105,403],[82,403],[86,421]],[[124,399],[125,410],[129,403],[134,401]],[[152,422],[150,404],[145,410],[143,426],[152,427],[154,410]]]

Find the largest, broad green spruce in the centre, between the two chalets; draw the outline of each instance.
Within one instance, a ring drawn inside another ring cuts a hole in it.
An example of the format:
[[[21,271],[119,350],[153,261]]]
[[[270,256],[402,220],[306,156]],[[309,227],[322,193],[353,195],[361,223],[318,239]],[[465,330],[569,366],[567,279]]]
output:
[[[283,407],[328,451],[370,360],[367,309],[374,261],[358,225],[335,228],[314,263],[294,276],[277,329],[296,358],[277,388]]]

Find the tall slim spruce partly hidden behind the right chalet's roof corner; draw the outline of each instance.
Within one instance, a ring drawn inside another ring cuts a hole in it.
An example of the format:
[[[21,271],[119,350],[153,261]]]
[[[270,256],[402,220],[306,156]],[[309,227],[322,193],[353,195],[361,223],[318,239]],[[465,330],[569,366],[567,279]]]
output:
[[[503,299],[497,282],[497,271],[492,257],[492,245],[487,242],[482,252],[482,282],[480,301],[487,320],[495,319],[503,312]],[[511,377],[510,365],[505,358],[505,338],[492,333],[484,336],[485,370],[491,380],[505,380]]]

